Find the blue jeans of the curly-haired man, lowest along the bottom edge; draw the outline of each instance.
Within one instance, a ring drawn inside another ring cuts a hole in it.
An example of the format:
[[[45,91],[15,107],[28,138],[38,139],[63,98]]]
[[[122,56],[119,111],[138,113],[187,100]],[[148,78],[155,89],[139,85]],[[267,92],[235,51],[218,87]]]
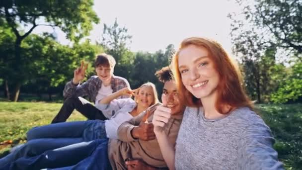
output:
[[[0,170],[110,170],[107,145],[108,139],[73,144],[35,157],[19,158]]]

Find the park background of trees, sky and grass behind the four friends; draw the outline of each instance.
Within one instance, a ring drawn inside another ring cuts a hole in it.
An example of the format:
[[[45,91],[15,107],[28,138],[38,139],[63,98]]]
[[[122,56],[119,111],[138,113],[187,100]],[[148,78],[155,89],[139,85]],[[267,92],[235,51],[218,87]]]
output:
[[[287,170],[302,169],[302,0],[1,0],[0,158],[49,124],[80,61],[114,56],[132,88],[148,81],[180,41],[222,43],[244,75]],[[74,112],[69,121],[85,120]]]

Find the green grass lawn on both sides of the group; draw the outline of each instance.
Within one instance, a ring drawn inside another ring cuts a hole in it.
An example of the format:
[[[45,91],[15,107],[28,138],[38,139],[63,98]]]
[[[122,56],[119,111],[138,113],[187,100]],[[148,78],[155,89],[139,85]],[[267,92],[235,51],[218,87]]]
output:
[[[62,104],[0,102],[0,158],[34,126],[49,124]],[[287,170],[302,170],[302,104],[258,104],[258,111],[272,129],[274,145]],[[86,120],[75,111],[68,121]]]

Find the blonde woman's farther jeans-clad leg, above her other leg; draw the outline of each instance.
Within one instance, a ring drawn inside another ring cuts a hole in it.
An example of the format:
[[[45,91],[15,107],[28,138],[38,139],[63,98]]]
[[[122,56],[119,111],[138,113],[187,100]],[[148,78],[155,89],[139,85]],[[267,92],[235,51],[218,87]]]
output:
[[[27,140],[38,138],[79,138],[84,130],[98,120],[55,123],[34,127],[27,132]]]

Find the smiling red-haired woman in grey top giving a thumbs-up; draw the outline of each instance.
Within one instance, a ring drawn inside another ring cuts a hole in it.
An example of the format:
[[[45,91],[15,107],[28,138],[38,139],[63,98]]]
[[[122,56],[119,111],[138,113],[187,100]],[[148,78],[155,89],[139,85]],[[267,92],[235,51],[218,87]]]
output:
[[[236,62],[210,39],[182,41],[172,71],[186,107],[176,146],[160,131],[169,119],[156,110],[154,132],[170,170],[282,170],[270,128],[253,111]]]

